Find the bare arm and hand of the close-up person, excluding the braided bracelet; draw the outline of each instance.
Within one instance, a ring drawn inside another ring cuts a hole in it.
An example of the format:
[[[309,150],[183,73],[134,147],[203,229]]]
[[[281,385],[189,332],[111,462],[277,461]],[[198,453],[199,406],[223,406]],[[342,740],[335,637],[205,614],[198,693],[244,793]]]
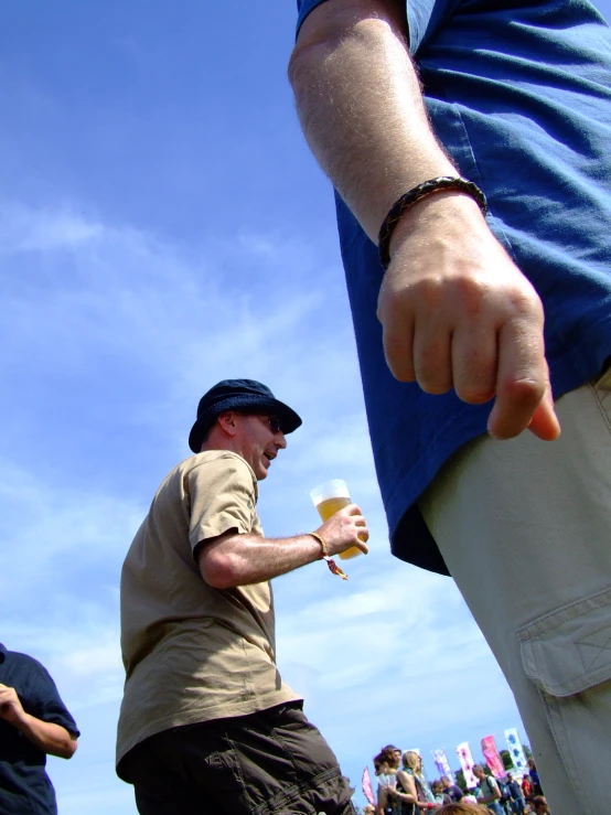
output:
[[[326,0],[303,22],[289,67],[306,138],[374,242],[403,193],[457,174],[405,37],[398,0]],[[539,298],[478,205],[457,192],[421,201],[390,249],[378,318],[393,374],[472,404],[496,396],[489,430],[500,438],[526,427],[556,438]]]

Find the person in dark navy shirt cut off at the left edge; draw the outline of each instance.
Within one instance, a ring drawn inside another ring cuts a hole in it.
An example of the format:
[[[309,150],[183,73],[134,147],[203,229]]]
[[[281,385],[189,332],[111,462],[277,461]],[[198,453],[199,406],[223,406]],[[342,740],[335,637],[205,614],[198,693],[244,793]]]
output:
[[[46,755],[69,759],[79,732],[49,672],[0,644],[0,813],[55,815]]]

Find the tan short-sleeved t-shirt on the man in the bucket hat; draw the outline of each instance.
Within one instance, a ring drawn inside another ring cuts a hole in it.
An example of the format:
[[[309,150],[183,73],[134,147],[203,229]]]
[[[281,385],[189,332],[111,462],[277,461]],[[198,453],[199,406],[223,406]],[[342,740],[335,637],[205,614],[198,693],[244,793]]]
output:
[[[276,667],[270,585],[213,589],[193,557],[229,529],[262,535],[256,502],[255,473],[224,450],[186,459],[159,487],[121,573],[117,762],[162,730],[300,698]]]

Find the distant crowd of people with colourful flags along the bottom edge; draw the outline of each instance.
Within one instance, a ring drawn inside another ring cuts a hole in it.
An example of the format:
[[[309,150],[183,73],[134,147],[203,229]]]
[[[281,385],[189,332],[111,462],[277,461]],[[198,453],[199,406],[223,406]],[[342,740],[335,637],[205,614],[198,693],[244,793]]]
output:
[[[422,757],[416,750],[401,750],[387,744],[374,757],[377,779],[377,803],[365,807],[365,815],[547,815],[550,809],[543,793],[535,761],[519,774],[507,772],[496,779],[486,764],[475,764],[476,786],[460,786],[457,780],[442,775],[429,783]]]

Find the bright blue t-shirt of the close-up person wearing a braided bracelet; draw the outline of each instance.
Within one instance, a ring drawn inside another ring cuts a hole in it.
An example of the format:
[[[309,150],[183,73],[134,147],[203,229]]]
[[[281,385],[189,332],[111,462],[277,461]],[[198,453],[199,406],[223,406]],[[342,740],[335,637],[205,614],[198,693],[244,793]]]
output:
[[[301,1],[298,28],[320,2]],[[611,32],[587,0],[409,0],[407,17],[433,130],[484,191],[492,232],[543,300],[557,398],[611,355]],[[377,249],[339,195],[336,208],[393,553],[448,573],[416,502],[485,431],[492,403],[392,376]]]

